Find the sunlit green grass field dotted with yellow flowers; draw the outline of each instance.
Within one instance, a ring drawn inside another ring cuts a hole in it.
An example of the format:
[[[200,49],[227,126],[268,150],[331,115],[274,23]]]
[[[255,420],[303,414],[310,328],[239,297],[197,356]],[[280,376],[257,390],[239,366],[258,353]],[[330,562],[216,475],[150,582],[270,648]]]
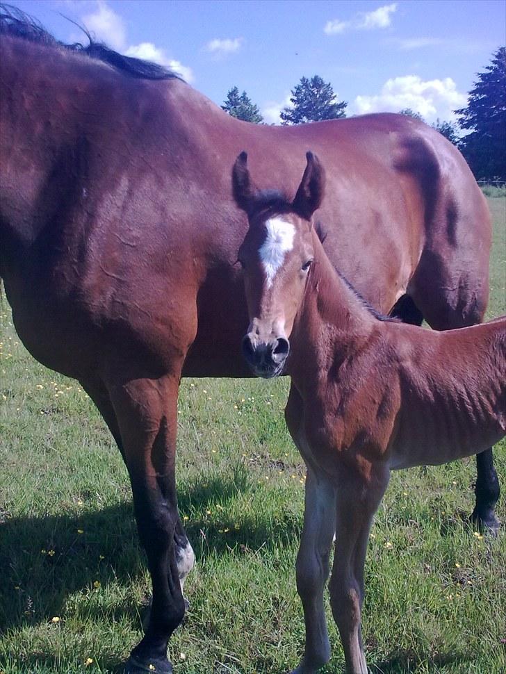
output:
[[[488,201],[492,317],[506,313],[506,199]],[[88,396],[31,359],[5,299],[1,313],[0,673],[118,672],[149,593],[126,470]],[[178,674],[281,674],[302,653],[304,469],[284,425],[287,390],[183,381],[179,503],[197,564],[170,644]],[[505,441],[495,457],[504,485]],[[473,458],[393,473],[366,562],[374,673],[506,671],[506,536],[468,526],[474,480]],[[327,612],[323,671],[336,673],[343,651]]]

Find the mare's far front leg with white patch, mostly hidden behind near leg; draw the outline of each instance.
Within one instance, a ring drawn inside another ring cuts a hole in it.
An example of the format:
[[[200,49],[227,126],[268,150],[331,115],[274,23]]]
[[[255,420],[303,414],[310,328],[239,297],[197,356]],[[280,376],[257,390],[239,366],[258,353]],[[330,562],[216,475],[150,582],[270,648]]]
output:
[[[98,411],[101,413],[102,418],[106,422],[108,429],[111,431],[111,434],[115,439],[123,459],[126,461],[123,441],[120,433],[120,426],[117,422],[116,413],[106,387],[98,377],[87,380],[81,379],[80,384],[97,406]],[[184,530],[183,523],[181,523],[181,519],[179,518],[179,513],[174,531],[174,545],[176,546],[177,570],[179,573],[179,582],[181,584],[182,592],[186,577],[195,564],[195,554],[193,553],[193,548],[190,545],[190,541],[188,541],[188,538],[186,537],[186,532]],[[184,602],[186,608],[188,609],[189,603],[186,597],[184,597]],[[150,612],[150,609],[151,607],[149,607],[148,613]],[[149,622],[148,618],[149,615],[144,618],[143,623],[147,624]]]

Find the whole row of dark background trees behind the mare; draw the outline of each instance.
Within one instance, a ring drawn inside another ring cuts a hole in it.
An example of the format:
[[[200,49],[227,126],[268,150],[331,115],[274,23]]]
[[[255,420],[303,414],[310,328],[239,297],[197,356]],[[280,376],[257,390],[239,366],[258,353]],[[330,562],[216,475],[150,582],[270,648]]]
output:
[[[308,124],[346,116],[346,101],[338,101],[332,85],[319,75],[302,77],[291,90],[291,106],[281,110],[281,124]],[[263,124],[263,117],[245,91],[227,93],[223,105],[232,117]],[[506,47],[500,47],[468,92],[468,104],[454,111],[457,122],[436,120],[432,127],[457,145],[480,180],[506,180]],[[404,108],[402,115],[423,120],[420,113]]]

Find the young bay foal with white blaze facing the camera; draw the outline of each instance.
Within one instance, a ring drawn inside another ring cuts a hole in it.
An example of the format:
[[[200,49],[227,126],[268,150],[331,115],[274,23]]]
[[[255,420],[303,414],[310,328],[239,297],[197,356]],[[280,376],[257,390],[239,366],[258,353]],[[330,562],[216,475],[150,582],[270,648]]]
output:
[[[367,674],[364,561],[390,471],[467,457],[505,436],[506,317],[435,332],[371,310],[311,226],[324,174],[310,152],[293,202],[256,192],[245,153],[233,182],[250,220],[239,251],[250,314],[243,350],[256,375],[291,376],[286,422],[307,466],[297,555],[306,648],[293,674],[330,657],[323,589],[334,532],[332,612],[348,672]]]

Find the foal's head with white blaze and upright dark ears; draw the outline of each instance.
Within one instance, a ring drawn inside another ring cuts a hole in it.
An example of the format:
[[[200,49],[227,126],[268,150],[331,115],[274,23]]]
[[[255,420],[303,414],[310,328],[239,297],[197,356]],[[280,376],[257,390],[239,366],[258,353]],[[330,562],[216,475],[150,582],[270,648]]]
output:
[[[260,377],[275,377],[284,368],[313,262],[311,217],[322,201],[325,176],[315,155],[308,152],[306,158],[293,202],[280,192],[254,188],[245,152],[232,171],[234,198],[250,221],[238,254],[250,315],[243,354]]]

